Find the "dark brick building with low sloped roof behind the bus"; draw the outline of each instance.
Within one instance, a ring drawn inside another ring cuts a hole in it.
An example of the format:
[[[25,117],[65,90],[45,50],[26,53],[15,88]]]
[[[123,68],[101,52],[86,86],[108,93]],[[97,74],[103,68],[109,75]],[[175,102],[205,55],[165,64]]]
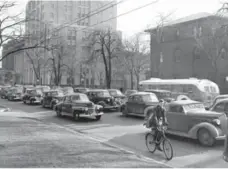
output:
[[[228,18],[198,13],[146,32],[151,77],[210,79],[228,92]]]

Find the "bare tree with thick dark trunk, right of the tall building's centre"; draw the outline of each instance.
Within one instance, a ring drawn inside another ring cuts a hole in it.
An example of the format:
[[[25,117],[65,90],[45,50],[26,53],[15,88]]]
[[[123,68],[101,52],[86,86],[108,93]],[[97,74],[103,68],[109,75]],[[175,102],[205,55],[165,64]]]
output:
[[[120,38],[117,32],[107,29],[95,30],[88,39],[91,42],[89,45],[93,53],[91,56],[94,56],[94,53],[96,56],[101,56],[105,70],[106,87],[110,88],[112,82],[112,61],[117,57],[116,52],[120,50]],[[89,60],[93,60],[93,58],[89,58]]]

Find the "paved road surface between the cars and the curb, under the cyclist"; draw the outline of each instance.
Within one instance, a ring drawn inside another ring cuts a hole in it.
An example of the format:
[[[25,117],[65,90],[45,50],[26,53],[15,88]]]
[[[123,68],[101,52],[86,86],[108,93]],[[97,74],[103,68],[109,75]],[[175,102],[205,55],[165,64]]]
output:
[[[80,131],[99,141],[112,143],[129,151],[165,162],[164,155],[161,152],[148,153],[144,140],[145,133],[148,130],[142,126],[142,118],[122,117],[118,112],[109,112],[105,113],[100,121],[92,119],[73,121],[67,117],[57,118],[54,111],[44,109],[41,106],[29,106],[22,102],[8,102],[6,100],[1,100],[1,103],[14,110],[39,114],[44,122],[51,122],[68,129]],[[215,154],[217,156],[222,154],[223,141],[218,142],[213,148],[208,148],[200,146],[195,140],[175,136],[168,137],[174,148],[174,159],[165,163],[174,167],[191,166],[196,161],[202,162]]]

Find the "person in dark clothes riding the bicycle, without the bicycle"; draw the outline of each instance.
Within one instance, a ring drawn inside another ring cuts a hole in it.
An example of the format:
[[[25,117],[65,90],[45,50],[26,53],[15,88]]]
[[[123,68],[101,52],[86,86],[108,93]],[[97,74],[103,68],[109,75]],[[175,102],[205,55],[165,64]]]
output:
[[[168,125],[167,118],[166,118],[166,110],[164,108],[165,101],[161,99],[159,101],[159,104],[154,107],[152,110],[148,112],[146,115],[146,127],[151,128],[155,131],[155,138],[159,131],[157,130],[157,127],[159,126],[159,120],[162,120],[163,125]],[[160,145],[157,145],[158,150],[161,150]]]

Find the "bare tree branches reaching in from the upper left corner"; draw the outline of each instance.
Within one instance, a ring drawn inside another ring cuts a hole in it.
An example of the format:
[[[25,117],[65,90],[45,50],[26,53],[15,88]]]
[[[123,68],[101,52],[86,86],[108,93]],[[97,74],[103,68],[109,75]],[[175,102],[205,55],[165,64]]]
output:
[[[13,1],[1,1],[0,2],[0,48],[3,47],[5,43],[10,40],[20,41],[21,39],[33,39],[34,35],[29,33],[24,33],[24,25],[27,22],[35,21],[35,19],[24,18],[22,16],[22,12],[17,14],[11,14],[10,11],[16,9],[17,3]],[[37,37],[36,37],[37,38]],[[12,48],[11,50],[4,52],[0,58],[2,61],[5,57],[28,49],[34,48],[45,48],[44,46],[44,39],[40,39],[39,42],[31,44],[31,45],[24,45],[19,48]]]

